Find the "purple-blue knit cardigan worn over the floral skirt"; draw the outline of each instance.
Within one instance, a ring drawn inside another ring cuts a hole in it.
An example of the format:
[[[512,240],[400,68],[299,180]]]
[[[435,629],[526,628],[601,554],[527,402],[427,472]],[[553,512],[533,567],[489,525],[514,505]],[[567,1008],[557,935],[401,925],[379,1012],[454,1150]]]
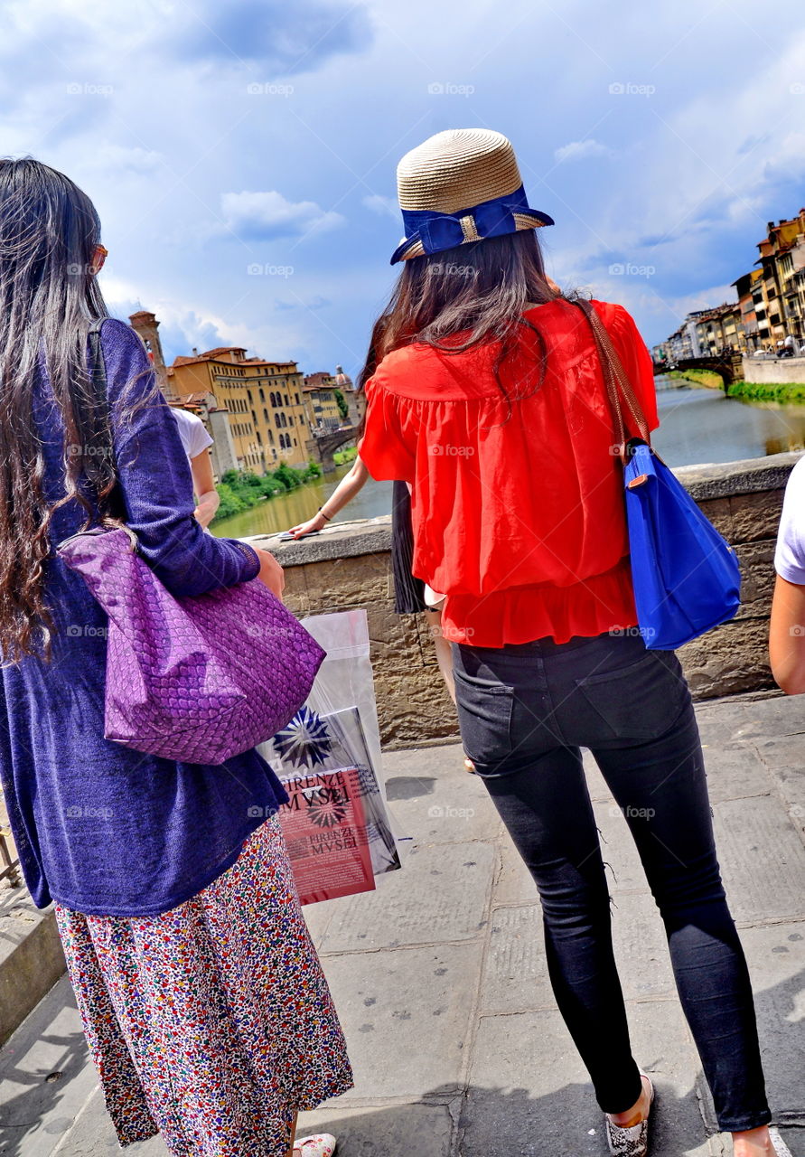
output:
[[[135,400],[153,386],[142,342],[113,319],[101,342],[120,489],[145,558],[175,595],[253,578],[254,551],[206,535],[193,517],[190,466],[162,398],[132,420],[118,415],[121,395]],[[44,370],[35,421],[56,501],[65,493],[64,429]],[[58,510],[52,545],[82,521],[76,503]],[[285,791],[256,751],[207,767],[106,742],[105,614],[54,554],[45,582],[57,622],[51,662],[0,670],[0,780],[25,882],[39,907],[54,899],[93,915],[165,912],[235,862]]]

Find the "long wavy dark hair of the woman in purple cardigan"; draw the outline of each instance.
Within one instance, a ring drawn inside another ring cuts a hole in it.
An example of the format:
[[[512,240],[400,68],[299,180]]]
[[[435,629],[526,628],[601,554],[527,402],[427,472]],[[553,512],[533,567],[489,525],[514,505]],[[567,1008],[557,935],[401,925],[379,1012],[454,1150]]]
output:
[[[61,172],[0,159],[0,648],[5,662],[50,653],[44,565],[53,510],[105,513],[115,486],[109,420],[87,368],[87,334],[108,317],[93,258],[95,206]],[[65,427],[66,493],[49,504],[34,415],[46,369]],[[89,493],[87,484],[89,484]]]

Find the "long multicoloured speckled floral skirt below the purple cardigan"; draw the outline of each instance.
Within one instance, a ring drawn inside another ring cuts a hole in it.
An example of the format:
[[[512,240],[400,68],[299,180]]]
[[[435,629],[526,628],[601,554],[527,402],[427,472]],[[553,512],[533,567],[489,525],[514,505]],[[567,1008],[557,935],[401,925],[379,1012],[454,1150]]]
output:
[[[276,818],[208,887],[157,916],[56,906],[121,1145],[285,1157],[297,1110],[352,1086]]]

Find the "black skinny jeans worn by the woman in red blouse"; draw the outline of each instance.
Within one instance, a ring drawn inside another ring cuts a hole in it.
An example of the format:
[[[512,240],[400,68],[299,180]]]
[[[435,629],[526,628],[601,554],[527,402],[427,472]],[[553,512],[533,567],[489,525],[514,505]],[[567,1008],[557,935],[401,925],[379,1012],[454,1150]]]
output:
[[[699,729],[673,651],[635,632],[453,646],[464,747],[542,904],[551,982],[600,1107],[641,1093],[582,769],[589,747],[665,923],[677,988],[725,1132],[770,1120],[752,988],[721,882]]]

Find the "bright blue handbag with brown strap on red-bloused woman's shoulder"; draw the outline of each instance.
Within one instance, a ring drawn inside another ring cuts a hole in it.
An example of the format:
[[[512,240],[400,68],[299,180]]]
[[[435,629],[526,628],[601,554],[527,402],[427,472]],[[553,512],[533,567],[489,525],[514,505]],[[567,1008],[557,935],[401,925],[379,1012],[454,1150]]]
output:
[[[640,633],[650,650],[675,650],[733,618],[740,606],[738,559],[652,449],[648,422],[604,323],[590,302],[577,304],[596,338],[623,465]],[[629,437],[625,410],[638,436]]]

